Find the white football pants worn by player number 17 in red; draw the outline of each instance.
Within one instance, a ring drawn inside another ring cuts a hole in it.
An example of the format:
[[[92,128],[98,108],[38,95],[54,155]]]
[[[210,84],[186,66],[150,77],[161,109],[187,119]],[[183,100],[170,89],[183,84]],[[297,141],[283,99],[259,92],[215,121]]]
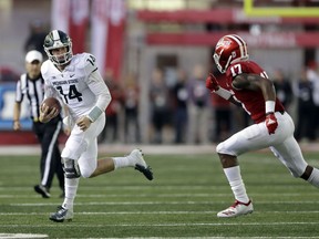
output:
[[[307,163],[294,137],[295,124],[288,113],[275,113],[278,127],[269,135],[265,122],[254,124],[217,145],[217,153],[239,156],[246,152],[269,147],[295,177],[300,177]]]

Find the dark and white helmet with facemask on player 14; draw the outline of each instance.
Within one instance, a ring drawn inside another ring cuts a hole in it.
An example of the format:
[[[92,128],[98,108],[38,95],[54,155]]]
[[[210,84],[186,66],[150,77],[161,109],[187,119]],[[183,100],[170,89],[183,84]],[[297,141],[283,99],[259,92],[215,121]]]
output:
[[[72,41],[66,33],[60,30],[53,30],[45,37],[43,48],[50,61],[55,65],[66,64],[73,56]],[[60,48],[66,48],[66,52],[60,55],[53,55],[52,50]]]

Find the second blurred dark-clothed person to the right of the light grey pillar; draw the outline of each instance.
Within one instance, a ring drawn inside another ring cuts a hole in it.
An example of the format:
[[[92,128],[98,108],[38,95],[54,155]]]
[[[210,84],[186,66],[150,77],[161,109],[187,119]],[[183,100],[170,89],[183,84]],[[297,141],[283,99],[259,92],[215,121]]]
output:
[[[175,125],[175,144],[186,143],[186,132],[188,123],[188,91],[187,76],[185,71],[177,72],[177,82],[172,89],[174,100],[174,125]]]

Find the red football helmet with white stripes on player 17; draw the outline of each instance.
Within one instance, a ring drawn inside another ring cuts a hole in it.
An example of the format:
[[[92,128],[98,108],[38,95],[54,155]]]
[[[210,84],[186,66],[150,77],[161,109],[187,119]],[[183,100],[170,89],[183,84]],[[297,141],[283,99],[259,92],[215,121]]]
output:
[[[225,73],[229,64],[249,59],[247,44],[239,35],[224,35],[217,42],[213,58],[219,72]]]

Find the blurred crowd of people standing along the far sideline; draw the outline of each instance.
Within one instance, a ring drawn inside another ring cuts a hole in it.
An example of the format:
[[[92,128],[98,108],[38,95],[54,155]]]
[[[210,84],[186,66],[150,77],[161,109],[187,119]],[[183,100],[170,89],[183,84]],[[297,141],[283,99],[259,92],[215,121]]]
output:
[[[34,21],[23,45],[43,51],[45,25]],[[45,56],[47,54],[43,54]],[[218,71],[210,70],[225,84]],[[222,97],[210,94],[205,86],[208,74],[204,65],[184,69],[154,69],[148,79],[147,138],[141,132],[141,85],[137,75],[130,73],[114,79],[111,70],[104,73],[112,102],[106,114],[106,126],[99,143],[151,144],[208,144],[224,141],[240,128],[251,124],[248,115]],[[0,84],[17,82],[20,74],[0,67]],[[270,73],[277,96],[286,111],[295,115],[297,141],[315,142],[319,136],[319,67],[308,62],[299,75],[280,69]]]

